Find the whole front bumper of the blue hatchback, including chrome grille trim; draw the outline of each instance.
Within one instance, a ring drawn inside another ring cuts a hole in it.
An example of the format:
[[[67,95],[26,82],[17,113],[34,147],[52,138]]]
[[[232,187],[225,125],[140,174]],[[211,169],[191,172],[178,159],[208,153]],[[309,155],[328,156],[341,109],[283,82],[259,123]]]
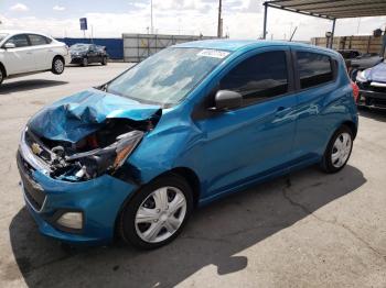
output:
[[[31,151],[20,147],[18,167],[24,200],[42,234],[72,244],[106,244],[114,239],[115,223],[125,200],[137,189],[109,175],[88,181],[69,182],[51,178],[29,160]],[[62,211],[83,213],[82,230],[71,231],[56,223]]]

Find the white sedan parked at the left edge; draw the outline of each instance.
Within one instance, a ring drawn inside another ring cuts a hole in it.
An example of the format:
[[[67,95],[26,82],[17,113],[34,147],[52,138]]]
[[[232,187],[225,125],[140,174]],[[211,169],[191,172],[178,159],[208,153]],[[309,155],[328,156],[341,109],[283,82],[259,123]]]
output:
[[[60,75],[69,62],[68,47],[62,42],[35,32],[0,30],[0,84],[40,71]]]

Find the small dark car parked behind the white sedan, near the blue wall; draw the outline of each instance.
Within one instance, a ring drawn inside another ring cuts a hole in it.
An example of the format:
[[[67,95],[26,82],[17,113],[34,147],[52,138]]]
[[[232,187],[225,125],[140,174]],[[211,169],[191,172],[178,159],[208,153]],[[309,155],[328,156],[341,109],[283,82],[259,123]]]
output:
[[[107,65],[108,55],[106,47],[94,44],[74,44],[69,47],[71,63],[87,66],[92,63]]]

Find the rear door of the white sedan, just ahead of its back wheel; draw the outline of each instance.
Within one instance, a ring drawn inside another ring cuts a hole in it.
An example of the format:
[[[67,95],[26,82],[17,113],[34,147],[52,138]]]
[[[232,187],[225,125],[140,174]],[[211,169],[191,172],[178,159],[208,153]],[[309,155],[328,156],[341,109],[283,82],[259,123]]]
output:
[[[35,69],[47,70],[52,68],[54,51],[50,44],[51,40],[37,34],[28,34],[31,43],[31,51],[34,56]]]

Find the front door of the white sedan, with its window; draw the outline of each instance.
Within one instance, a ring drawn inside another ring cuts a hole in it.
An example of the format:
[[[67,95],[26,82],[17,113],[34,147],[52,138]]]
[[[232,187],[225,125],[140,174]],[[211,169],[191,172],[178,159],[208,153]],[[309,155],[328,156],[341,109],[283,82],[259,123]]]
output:
[[[8,75],[29,73],[35,70],[35,63],[31,45],[25,34],[10,37],[4,44],[13,43],[14,48],[4,49],[4,65]]]

